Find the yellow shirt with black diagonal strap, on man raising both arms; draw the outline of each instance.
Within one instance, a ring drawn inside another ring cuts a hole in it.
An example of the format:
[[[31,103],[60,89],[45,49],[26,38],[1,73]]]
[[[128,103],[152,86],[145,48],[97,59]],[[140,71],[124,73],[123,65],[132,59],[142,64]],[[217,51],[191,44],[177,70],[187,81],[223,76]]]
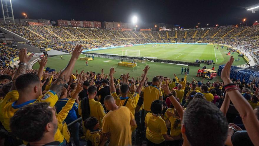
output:
[[[119,96],[117,96],[116,92],[111,93],[111,96],[114,97],[117,106],[123,106],[124,102],[126,101],[126,99],[121,100]],[[127,104],[125,105],[127,108],[129,108],[133,115],[135,115],[135,108],[139,98],[140,95],[138,93],[134,93],[133,96],[129,96]]]

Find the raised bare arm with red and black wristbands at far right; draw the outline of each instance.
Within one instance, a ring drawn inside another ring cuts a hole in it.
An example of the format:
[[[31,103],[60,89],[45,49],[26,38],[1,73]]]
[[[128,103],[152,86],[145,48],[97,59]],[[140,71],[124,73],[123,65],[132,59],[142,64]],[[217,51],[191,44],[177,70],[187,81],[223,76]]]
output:
[[[230,80],[230,67],[233,61],[234,58],[233,56],[231,56],[230,60],[228,61],[228,63],[226,63],[221,72],[221,78],[224,81],[225,87],[228,86],[228,84],[233,83]],[[248,136],[250,137],[251,141],[254,145],[259,145],[259,121],[256,115],[254,114],[252,107],[238,90],[229,90],[227,92],[229,98],[231,99],[235,108],[239,112],[240,117],[242,118],[242,121],[245,125],[245,128],[248,132]]]

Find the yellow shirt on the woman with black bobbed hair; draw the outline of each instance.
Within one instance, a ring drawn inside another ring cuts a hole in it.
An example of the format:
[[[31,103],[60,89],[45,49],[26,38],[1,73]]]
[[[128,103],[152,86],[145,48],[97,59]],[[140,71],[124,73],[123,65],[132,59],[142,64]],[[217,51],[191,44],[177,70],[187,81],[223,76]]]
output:
[[[145,118],[146,137],[153,143],[160,144],[165,141],[162,134],[167,134],[165,121],[160,116],[153,116],[152,113],[147,113]]]

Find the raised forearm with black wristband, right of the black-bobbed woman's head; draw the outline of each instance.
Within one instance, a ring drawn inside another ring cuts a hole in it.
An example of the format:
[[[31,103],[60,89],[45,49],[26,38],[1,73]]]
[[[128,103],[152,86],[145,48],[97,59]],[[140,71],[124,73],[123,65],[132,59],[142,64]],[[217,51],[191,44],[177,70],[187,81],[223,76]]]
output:
[[[164,90],[166,95],[171,94],[167,81],[166,81],[166,84],[162,85],[162,89]],[[172,104],[175,106],[175,109],[177,110],[180,118],[182,119],[184,111],[182,109],[181,104],[175,99],[173,95],[169,96],[169,99],[172,102]]]

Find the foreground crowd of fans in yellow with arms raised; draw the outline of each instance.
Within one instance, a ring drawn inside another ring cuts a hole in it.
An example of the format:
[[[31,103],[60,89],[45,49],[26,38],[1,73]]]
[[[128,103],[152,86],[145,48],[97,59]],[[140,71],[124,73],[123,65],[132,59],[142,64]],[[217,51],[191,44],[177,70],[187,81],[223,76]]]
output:
[[[26,69],[32,57],[26,49],[16,70],[0,69],[1,143],[78,146],[82,135],[87,145],[259,144],[258,84],[229,78],[232,57],[223,82],[211,83],[187,81],[187,74],[148,80],[149,66],[138,78],[114,78],[113,67],[109,74],[72,73],[81,52],[77,45],[59,72],[44,71],[47,57],[38,70]]]

